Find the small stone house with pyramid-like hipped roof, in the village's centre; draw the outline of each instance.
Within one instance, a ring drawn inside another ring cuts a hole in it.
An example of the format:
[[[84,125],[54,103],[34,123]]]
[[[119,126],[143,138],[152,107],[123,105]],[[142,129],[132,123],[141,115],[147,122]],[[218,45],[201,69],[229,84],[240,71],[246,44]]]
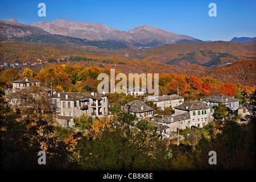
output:
[[[135,113],[139,119],[146,119],[152,116],[154,109],[141,100],[135,100],[123,105],[122,110]]]

